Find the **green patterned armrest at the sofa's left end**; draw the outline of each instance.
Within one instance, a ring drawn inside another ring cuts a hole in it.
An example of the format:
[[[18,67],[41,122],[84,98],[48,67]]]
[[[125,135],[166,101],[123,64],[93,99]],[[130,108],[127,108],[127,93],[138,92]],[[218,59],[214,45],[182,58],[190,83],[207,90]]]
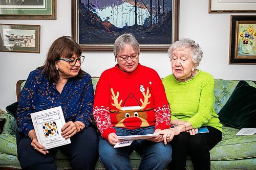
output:
[[[14,135],[17,131],[17,124],[13,115],[7,112],[2,114],[0,118],[4,118],[6,120],[3,133]]]

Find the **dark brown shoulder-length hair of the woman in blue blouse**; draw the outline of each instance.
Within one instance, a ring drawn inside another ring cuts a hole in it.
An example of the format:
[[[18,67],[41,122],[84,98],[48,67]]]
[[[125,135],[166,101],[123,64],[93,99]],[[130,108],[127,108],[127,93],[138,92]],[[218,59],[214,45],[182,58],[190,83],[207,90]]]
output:
[[[70,36],[59,37],[50,46],[44,65],[38,67],[38,69],[41,69],[42,72],[44,72],[49,82],[57,83],[59,80],[59,73],[58,70],[56,70],[55,63],[60,58],[69,59],[74,54],[77,57],[82,54],[80,46]],[[75,78],[81,78],[83,75],[84,71],[80,69]]]

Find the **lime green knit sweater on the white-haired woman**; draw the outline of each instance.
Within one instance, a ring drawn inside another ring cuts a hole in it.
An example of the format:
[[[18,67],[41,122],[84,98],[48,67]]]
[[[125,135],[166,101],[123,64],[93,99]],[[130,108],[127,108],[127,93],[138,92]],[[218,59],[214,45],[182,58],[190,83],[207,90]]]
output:
[[[222,131],[220,120],[214,109],[214,78],[199,70],[186,82],[178,82],[173,75],[163,79],[166,96],[172,111],[171,121],[180,119],[193,128],[211,126]]]

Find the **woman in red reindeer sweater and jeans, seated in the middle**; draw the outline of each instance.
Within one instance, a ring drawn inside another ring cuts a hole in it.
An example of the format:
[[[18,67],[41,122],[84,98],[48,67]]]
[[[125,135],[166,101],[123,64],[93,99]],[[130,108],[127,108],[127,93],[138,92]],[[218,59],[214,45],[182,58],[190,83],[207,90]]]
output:
[[[132,141],[114,148],[118,136],[147,135],[169,128],[170,108],[157,72],[139,63],[139,42],[131,34],[114,43],[117,64],[105,70],[97,83],[93,116],[99,134],[99,158],[106,169],[132,169],[130,154],[136,150],[142,160],[139,169],[164,169],[172,147],[162,135]]]

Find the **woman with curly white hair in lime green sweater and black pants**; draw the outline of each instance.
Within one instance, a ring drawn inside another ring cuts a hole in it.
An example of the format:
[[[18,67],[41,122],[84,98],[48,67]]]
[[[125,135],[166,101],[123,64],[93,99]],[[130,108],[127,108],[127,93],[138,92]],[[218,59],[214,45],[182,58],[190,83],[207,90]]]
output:
[[[222,125],[214,109],[214,78],[197,69],[203,52],[198,43],[182,38],[168,50],[173,74],[163,79],[172,110],[170,129],[165,129],[164,143],[172,143],[171,169],[185,169],[191,157],[194,169],[210,169],[209,151],[222,139]],[[198,133],[206,127],[209,133]]]

